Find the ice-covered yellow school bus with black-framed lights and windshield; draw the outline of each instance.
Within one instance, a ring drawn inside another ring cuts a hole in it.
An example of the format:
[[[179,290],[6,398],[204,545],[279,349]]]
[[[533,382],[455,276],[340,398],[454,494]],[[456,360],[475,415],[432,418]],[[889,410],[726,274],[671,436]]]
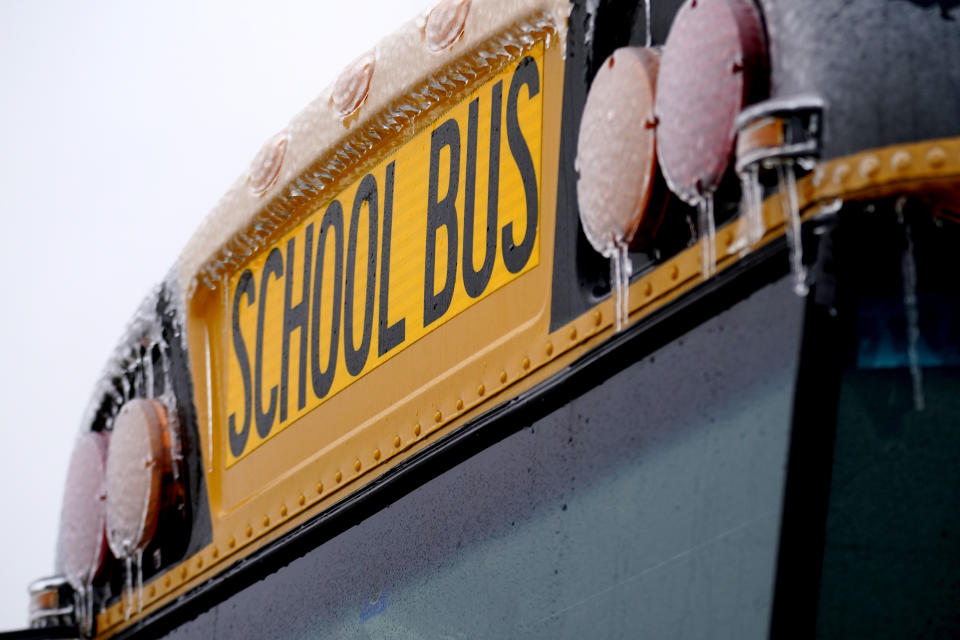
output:
[[[955,637],[955,13],[401,27],[136,314],[17,637]]]

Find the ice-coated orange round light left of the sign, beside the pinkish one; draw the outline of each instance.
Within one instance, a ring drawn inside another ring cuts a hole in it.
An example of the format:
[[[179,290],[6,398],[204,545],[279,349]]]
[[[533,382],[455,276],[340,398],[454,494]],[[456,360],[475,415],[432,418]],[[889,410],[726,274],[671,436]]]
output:
[[[107,455],[107,540],[118,558],[146,547],[157,526],[167,451],[166,410],[135,398],[120,409]]]

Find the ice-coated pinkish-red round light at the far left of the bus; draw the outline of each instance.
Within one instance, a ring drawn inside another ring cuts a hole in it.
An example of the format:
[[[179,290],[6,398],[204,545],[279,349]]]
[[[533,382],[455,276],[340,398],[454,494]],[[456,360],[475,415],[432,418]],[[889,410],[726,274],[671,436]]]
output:
[[[57,536],[57,570],[82,590],[93,582],[107,554],[104,503],[108,436],[87,431],[74,445]]]

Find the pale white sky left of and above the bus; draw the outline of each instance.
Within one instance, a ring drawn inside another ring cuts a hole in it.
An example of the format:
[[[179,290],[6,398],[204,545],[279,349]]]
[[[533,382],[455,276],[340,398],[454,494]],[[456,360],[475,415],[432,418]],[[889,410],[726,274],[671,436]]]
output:
[[[261,143],[429,0],[0,2],[0,629],[126,321]]]

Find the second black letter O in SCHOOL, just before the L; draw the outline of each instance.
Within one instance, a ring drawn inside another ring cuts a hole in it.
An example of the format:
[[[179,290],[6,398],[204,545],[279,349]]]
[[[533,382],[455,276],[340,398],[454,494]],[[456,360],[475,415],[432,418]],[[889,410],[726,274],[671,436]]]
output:
[[[367,237],[367,287],[364,297],[363,334],[360,346],[353,343],[354,282],[357,275],[357,235],[360,227],[360,209],[367,203],[370,230]],[[370,353],[370,338],[373,331],[373,294],[377,286],[377,179],[368,173],[357,187],[350,214],[350,236],[347,240],[347,281],[343,305],[343,357],[347,371],[355,376],[363,371]]]

